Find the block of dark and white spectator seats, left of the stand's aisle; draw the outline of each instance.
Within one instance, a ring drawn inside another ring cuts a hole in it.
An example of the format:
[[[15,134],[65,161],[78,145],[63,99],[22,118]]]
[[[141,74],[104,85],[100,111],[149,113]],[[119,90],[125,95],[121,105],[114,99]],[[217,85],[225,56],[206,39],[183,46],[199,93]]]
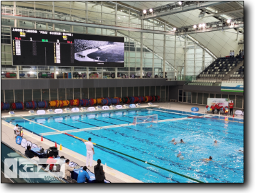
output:
[[[211,78],[219,78],[222,79],[223,77],[231,72],[239,63],[241,63],[243,59],[229,59],[229,58],[219,58],[216,59],[213,63],[211,63],[208,68],[203,70],[198,75],[198,78],[203,79],[211,79]]]

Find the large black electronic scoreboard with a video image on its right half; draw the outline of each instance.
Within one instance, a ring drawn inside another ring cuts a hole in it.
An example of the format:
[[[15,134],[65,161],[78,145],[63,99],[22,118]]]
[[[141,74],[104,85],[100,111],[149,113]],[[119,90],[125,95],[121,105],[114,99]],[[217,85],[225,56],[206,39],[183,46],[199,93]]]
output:
[[[12,65],[123,67],[124,38],[11,28]]]

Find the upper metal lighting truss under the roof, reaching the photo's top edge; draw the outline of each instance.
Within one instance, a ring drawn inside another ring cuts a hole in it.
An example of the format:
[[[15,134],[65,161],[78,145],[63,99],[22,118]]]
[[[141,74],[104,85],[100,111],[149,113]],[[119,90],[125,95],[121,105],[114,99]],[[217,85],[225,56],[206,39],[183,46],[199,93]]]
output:
[[[156,8],[152,8],[153,12],[149,12],[147,10],[147,14],[143,14],[143,11],[140,12],[141,19],[153,19],[156,17],[163,17],[170,14],[177,14],[180,12],[188,12],[191,10],[201,9],[210,6],[217,6],[222,3],[228,3],[232,1],[206,1],[204,3],[196,3],[196,1],[183,1],[183,5],[179,5],[179,3],[170,3],[165,6],[160,6]],[[189,3],[187,3],[189,2]]]

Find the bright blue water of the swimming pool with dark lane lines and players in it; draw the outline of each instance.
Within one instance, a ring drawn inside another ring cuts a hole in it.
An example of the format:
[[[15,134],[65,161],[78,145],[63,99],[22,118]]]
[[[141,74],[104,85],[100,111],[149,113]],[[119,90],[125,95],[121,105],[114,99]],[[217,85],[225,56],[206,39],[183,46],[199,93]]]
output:
[[[203,182],[244,182],[244,154],[237,152],[244,150],[244,124],[233,122],[241,121],[240,119],[225,121],[225,117],[221,118],[223,120],[219,120],[219,117],[214,116],[215,119],[177,120],[177,118],[201,114],[174,110],[164,111],[166,112],[140,110],[32,119],[42,125],[24,119],[16,119],[12,123],[18,123],[30,131],[41,134],[55,132],[43,125],[61,131],[77,130],[127,124],[134,121],[134,116],[158,114],[158,121],[175,120],[152,123],[152,128],[149,128],[151,123],[143,123],[101,130],[69,131],[68,133],[82,139],[91,137],[94,143]],[[45,138],[57,141],[64,147],[86,156],[85,145],[78,139],[66,134],[52,134]],[[185,143],[174,145],[170,143],[172,138],[175,138],[176,141],[183,139]],[[213,144],[214,140],[218,141],[218,145]],[[179,151],[182,152],[183,159],[176,157]],[[209,156],[212,156],[215,162],[200,161]],[[107,163],[109,167],[143,182],[193,182],[97,145],[95,145],[93,159],[101,159],[102,163]]]

